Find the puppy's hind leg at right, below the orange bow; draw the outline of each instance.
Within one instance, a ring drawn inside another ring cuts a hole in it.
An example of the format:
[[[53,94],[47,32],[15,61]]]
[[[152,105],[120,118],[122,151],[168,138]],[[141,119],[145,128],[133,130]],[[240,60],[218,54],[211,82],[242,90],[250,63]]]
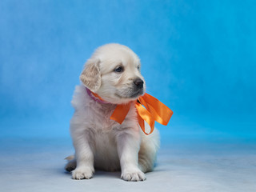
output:
[[[154,132],[150,135],[142,133],[142,142],[138,152],[138,167],[143,173],[150,172],[154,169],[159,145],[160,139],[157,129],[154,129]]]

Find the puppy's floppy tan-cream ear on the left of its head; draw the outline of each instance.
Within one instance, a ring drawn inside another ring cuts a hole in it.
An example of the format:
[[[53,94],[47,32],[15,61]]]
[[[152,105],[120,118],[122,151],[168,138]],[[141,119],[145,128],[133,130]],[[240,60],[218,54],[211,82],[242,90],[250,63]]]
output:
[[[92,92],[97,91],[102,84],[99,62],[98,59],[89,59],[80,75],[81,82]]]

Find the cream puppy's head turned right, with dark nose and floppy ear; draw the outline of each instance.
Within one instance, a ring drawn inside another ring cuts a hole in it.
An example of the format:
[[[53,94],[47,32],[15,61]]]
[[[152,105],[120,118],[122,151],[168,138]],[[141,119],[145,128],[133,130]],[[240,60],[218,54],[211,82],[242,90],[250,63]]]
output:
[[[95,50],[80,80],[106,102],[126,103],[145,93],[140,67],[138,56],[127,46],[107,44]]]

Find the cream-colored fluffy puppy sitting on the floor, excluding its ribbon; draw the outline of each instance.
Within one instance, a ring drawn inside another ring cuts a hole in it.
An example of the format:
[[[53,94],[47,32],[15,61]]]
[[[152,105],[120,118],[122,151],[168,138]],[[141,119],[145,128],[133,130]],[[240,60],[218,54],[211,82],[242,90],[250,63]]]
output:
[[[86,62],[76,86],[72,105],[74,116],[70,132],[74,158],[68,158],[66,170],[72,178],[92,178],[94,167],[120,170],[126,181],[143,181],[144,173],[153,170],[159,146],[158,130],[146,135],[138,125],[133,102],[145,93],[139,58],[119,44],[99,47]],[[86,87],[98,94],[106,104],[96,102]],[[116,104],[129,103],[130,111],[122,124],[110,120]],[[146,128],[149,126],[146,124]]]

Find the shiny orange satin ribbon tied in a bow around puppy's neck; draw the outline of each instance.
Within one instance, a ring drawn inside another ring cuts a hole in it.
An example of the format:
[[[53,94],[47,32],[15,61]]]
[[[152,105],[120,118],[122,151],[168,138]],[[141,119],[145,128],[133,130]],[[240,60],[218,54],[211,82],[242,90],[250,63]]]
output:
[[[102,100],[98,94],[94,94],[94,96]],[[145,108],[143,106],[145,106]],[[172,110],[150,94],[144,94],[143,96],[139,97],[138,101],[135,102],[135,107],[138,114],[138,124],[141,126],[142,131],[145,134],[151,134],[153,132],[154,121],[166,126],[173,115]],[[110,119],[122,124],[129,110],[129,104],[120,104],[115,108]],[[150,125],[150,133],[146,133],[144,121]]]

